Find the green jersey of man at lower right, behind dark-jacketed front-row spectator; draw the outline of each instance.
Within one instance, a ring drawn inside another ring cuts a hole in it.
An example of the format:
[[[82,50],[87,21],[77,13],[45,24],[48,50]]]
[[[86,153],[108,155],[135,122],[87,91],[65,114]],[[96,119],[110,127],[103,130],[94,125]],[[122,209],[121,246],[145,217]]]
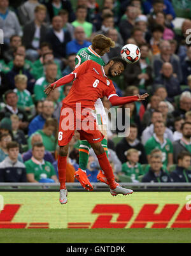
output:
[[[173,144],[171,140],[164,139],[164,142],[161,144],[154,134],[150,139],[147,140],[145,144],[146,154],[150,154],[153,149],[160,149],[162,151],[162,163],[167,166],[168,164],[168,154],[173,154]]]

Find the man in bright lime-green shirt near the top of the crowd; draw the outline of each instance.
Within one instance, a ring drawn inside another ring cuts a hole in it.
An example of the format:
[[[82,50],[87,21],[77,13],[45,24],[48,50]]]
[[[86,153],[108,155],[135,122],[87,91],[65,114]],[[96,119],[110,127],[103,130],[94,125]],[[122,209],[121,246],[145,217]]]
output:
[[[72,22],[74,27],[81,26],[83,27],[87,40],[90,38],[93,32],[93,26],[90,22],[87,22],[85,19],[87,17],[87,7],[84,5],[79,5],[76,8],[76,20]]]

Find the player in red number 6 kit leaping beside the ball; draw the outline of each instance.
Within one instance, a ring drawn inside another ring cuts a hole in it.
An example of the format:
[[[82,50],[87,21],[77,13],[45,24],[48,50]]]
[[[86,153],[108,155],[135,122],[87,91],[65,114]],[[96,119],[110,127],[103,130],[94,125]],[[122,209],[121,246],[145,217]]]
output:
[[[80,139],[87,140],[92,146],[92,149],[94,149],[99,165],[101,169],[103,169],[106,180],[110,186],[111,195],[117,195],[119,193],[127,195],[133,192],[132,190],[122,188],[115,182],[110,162],[101,145],[101,140],[103,140],[104,136],[99,132],[95,117],[92,114],[95,101],[97,98],[103,98],[103,96],[107,96],[112,105],[123,105],[128,102],[145,100],[145,98],[148,97],[147,93],[127,97],[119,97],[117,95],[113,82],[108,76],[116,77],[120,75],[124,72],[126,64],[127,63],[120,57],[114,57],[106,66],[101,66],[94,61],[88,60],[78,66],[72,73],[50,84],[45,89],[45,93],[48,94],[56,87],[74,80],[69,94],[62,102],[63,105],[60,111],[58,169],[61,204],[66,204],[67,202],[67,189],[65,184],[66,158],[68,144],[75,130],[78,130],[80,133]],[[87,123],[88,127],[85,125]],[[93,186],[90,184],[85,172],[78,170],[75,173],[75,177],[84,188],[93,190]]]

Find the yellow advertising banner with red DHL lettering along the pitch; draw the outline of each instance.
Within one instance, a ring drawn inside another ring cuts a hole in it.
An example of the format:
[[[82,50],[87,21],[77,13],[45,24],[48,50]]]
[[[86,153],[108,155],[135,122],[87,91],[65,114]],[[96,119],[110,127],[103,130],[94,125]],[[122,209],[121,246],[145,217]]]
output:
[[[191,192],[0,192],[0,229],[191,228]]]

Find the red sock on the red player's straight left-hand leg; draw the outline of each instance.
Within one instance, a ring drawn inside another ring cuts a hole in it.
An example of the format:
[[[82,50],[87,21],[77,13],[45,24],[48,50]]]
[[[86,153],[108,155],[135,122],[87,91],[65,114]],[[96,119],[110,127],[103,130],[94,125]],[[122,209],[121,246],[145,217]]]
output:
[[[58,170],[59,170],[59,181],[60,181],[60,190],[66,190],[66,163],[67,156],[58,157]]]

